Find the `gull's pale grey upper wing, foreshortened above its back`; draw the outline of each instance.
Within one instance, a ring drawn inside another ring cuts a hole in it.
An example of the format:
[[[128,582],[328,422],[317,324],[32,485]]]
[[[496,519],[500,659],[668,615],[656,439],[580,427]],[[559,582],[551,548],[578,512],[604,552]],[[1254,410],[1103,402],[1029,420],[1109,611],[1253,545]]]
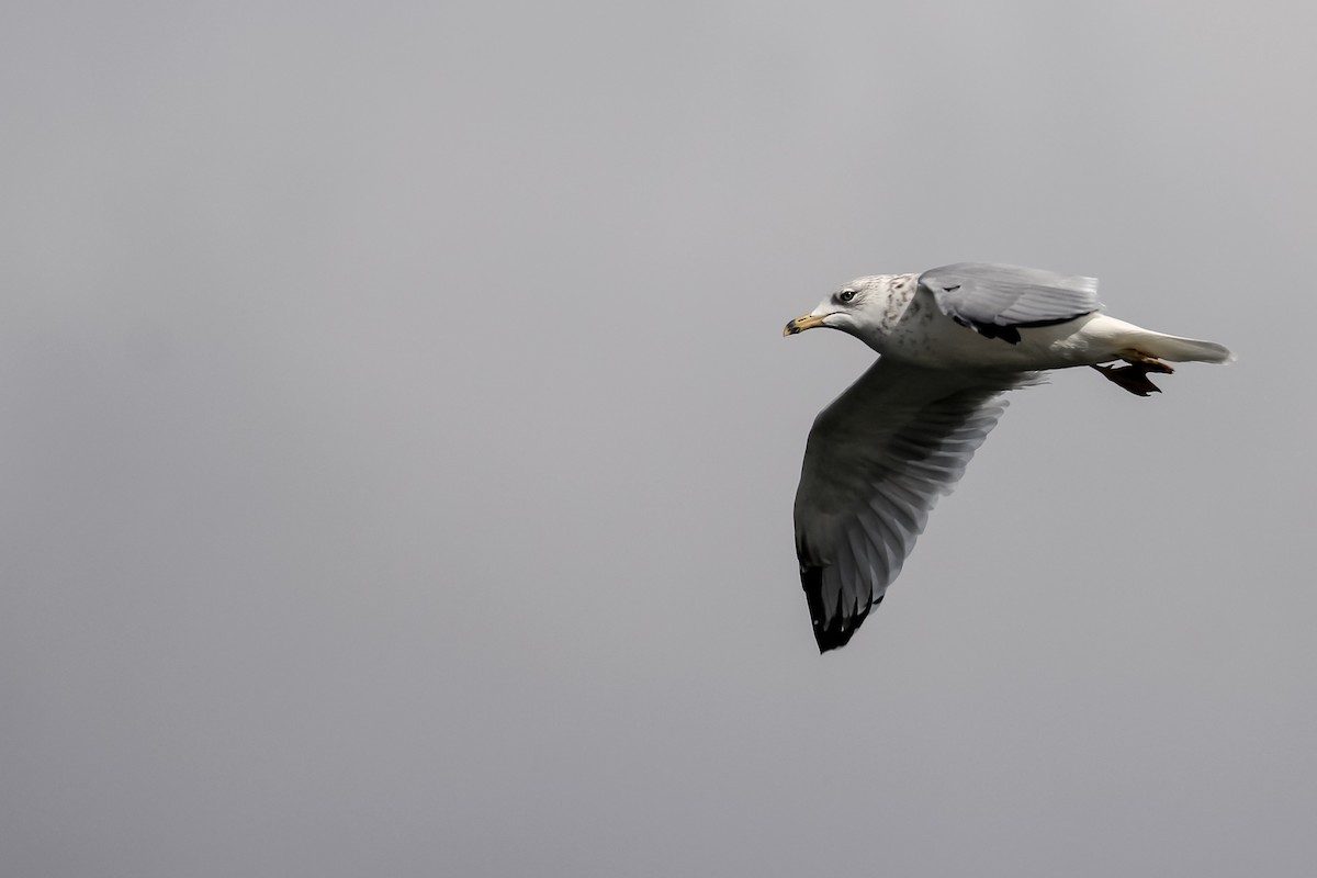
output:
[[[1051,326],[1101,308],[1097,278],[984,262],[957,262],[919,275],[919,287],[956,323],[988,338],[1019,341],[1021,326]]]

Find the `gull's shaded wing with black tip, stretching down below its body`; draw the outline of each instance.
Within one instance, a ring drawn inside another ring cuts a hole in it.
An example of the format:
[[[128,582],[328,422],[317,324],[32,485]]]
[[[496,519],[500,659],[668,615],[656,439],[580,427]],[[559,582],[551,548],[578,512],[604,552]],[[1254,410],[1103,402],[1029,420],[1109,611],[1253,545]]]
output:
[[[795,554],[819,652],[851,640],[1006,408],[1035,373],[878,359],[814,421],[795,492]]]

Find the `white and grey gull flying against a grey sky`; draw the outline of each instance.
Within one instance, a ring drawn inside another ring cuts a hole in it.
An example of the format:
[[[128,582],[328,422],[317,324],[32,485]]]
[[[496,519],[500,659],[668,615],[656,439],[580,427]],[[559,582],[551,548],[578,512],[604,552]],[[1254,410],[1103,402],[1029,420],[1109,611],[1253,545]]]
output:
[[[877,607],[1006,409],[1002,394],[1042,371],[1090,366],[1137,396],[1167,362],[1223,363],[1221,345],[1142,329],[1101,312],[1097,280],[959,262],[857,278],[786,324],[840,329],[878,353],[805,446],[795,554],[820,653],[844,646]],[[1108,363],[1123,363],[1121,366]]]

